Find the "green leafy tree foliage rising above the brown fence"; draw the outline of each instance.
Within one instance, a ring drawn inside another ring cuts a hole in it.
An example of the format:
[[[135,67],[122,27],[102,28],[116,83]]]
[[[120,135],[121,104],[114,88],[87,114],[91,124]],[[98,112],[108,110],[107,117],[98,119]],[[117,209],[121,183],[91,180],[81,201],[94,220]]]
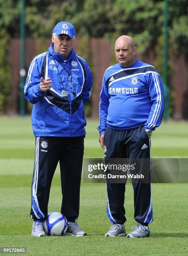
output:
[[[51,35],[54,24],[68,20],[78,36],[133,36],[140,52],[154,48],[163,33],[164,0],[25,0],[26,36]],[[174,50],[188,51],[187,0],[169,0],[168,31]],[[0,27],[19,37],[20,0],[0,1]]]

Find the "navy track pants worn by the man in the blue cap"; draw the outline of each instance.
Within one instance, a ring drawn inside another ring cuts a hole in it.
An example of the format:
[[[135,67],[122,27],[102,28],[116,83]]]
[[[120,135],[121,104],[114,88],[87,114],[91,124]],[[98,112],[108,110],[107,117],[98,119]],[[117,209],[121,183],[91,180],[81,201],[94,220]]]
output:
[[[61,213],[74,222],[79,216],[80,182],[84,154],[84,137],[37,137],[31,210],[33,220],[45,220],[51,182],[59,162],[61,172]]]

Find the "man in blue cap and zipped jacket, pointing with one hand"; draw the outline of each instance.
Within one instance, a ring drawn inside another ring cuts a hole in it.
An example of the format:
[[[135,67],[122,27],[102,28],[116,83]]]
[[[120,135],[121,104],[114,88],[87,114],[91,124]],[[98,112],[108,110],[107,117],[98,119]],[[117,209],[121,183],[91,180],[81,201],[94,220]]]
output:
[[[61,213],[69,224],[66,235],[86,235],[76,220],[86,134],[84,104],[91,96],[92,76],[86,61],[72,49],[75,36],[71,23],[57,23],[48,51],[31,62],[24,87],[25,98],[33,104],[31,119],[36,137],[31,183],[32,236],[45,236],[43,222],[48,215],[51,182],[58,162]]]

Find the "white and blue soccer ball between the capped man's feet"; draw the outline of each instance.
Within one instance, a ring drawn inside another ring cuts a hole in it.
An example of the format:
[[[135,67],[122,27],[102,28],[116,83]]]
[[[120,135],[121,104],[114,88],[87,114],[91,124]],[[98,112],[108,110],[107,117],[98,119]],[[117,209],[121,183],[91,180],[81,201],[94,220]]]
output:
[[[67,226],[67,220],[63,214],[60,212],[50,212],[44,221],[44,232],[47,236],[63,236]]]

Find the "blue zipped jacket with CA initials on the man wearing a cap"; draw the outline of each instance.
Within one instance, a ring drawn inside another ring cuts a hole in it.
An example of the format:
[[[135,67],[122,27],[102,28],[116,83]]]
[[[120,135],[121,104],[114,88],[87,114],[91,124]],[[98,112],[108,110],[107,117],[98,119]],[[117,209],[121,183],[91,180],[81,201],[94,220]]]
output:
[[[52,88],[48,92],[40,91],[41,77],[52,80]],[[69,93],[67,98],[61,97],[63,89]],[[55,53],[51,44],[49,51],[36,56],[31,62],[24,87],[25,98],[33,104],[31,120],[34,135],[84,135],[84,103],[88,102],[91,90],[92,76],[86,61],[73,49],[65,60],[61,54]]]

